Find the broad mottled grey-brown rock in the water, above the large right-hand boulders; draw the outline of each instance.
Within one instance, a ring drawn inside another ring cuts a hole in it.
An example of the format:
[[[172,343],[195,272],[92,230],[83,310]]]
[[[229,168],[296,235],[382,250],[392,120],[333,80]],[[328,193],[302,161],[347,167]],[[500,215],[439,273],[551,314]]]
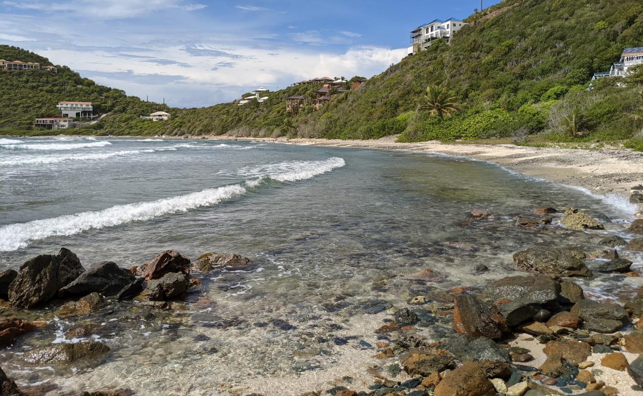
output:
[[[560,276],[591,276],[583,260],[573,250],[557,248],[529,248],[514,254],[516,268],[528,272]]]

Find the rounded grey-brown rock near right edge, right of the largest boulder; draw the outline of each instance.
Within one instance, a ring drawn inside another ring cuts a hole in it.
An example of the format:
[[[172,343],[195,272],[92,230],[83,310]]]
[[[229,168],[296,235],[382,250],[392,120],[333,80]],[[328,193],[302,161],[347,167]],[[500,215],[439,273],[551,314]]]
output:
[[[613,333],[627,323],[628,312],[615,303],[581,300],[572,306],[572,314],[583,319],[583,328],[599,333]]]

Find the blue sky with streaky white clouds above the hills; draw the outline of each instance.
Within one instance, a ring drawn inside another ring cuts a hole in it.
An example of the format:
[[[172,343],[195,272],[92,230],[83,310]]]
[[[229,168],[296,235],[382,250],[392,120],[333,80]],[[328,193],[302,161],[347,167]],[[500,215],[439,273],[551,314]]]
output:
[[[0,0],[0,43],[129,95],[190,108],[260,86],[372,77],[406,56],[413,28],[479,7],[479,0]]]

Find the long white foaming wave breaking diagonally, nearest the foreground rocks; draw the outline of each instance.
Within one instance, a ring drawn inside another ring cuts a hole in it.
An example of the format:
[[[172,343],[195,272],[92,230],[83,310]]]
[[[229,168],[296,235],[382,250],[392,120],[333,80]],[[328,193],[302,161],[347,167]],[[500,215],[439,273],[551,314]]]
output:
[[[127,205],[116,205],[100,211],[66,214],[55,218],[33,220],[27,223],[16,223],[0,227],[0,251],[13,251],[29,245],[30,241],[42,240],[50,236],[69,236],[90,229],[113,227],[123,223],[150,220],[164,214],[186,212],[197,207],[212,206],[231,198],[239,197],[255,187],[262,180],[261,176],[280,182],[305,180],[344,166],[342,158],[329,158],[323,161],[284,162],[268,165],[272,169],[284,169],[282,172],[270,171],[258,175],[259,180],[249,180],[248,184],[233,184],[196,193],[163,198],[152,202],[137,202]]]

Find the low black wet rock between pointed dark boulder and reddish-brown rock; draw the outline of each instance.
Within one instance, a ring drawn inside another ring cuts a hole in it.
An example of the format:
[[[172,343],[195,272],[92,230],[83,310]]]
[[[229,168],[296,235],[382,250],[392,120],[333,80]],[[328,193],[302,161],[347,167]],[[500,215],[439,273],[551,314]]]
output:
[[[64,295],[86,296],[98,292],[104,296],[113,296],[135,279],[129,270],[120,268],[111,261],[103,261],[89,267],[60,291]]]

